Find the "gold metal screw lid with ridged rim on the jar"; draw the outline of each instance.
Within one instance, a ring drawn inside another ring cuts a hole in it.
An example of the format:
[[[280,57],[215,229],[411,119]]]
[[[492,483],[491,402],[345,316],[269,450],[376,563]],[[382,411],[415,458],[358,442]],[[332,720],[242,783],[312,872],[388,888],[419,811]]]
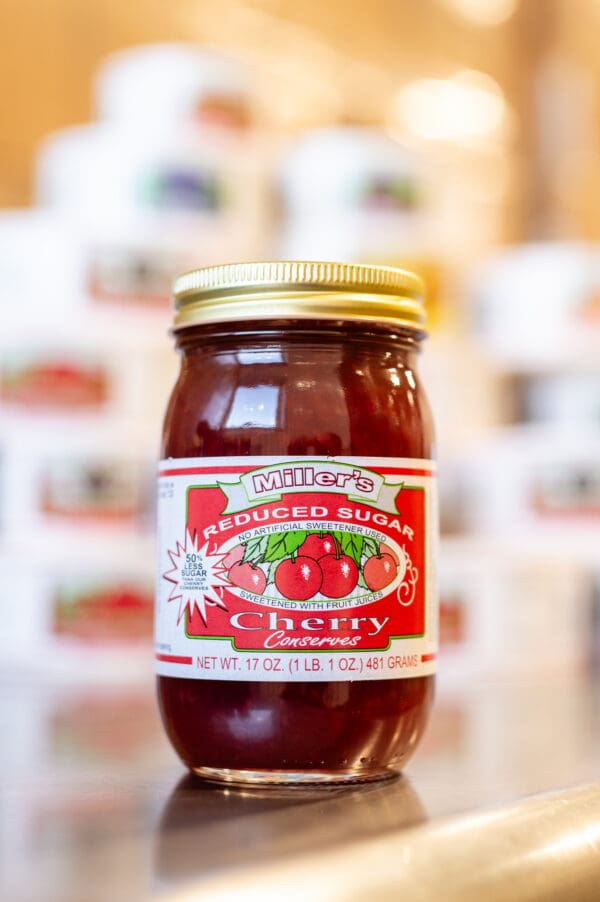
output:
[[[265,319],[384,322],[422,331],[424,286],[392,266],[317,261],[229,263],[183,273],[173,285],[175,330]]]

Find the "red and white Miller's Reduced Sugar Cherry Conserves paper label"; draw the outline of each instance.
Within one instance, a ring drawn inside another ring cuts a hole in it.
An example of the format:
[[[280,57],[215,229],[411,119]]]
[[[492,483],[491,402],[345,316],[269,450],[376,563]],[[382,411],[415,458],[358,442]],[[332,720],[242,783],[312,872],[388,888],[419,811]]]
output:
[[[430,460],[164,460],[156,669],[188,679],[377,680],[435,670]]]

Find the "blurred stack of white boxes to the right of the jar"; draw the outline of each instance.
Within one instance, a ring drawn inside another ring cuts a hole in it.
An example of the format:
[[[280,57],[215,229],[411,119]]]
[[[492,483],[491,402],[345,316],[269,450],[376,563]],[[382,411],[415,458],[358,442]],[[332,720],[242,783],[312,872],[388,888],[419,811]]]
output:
[[[599,298],[600,251],[582,244],[507,249],[473,279],[471,332],[509,403],[454,455],[448,672],[564,677],[597,658]]]

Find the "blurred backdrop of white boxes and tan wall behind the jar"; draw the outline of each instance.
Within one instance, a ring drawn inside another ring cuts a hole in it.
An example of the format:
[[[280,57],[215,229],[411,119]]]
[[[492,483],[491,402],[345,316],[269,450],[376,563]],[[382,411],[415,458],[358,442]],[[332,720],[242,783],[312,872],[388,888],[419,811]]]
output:
[[[169,284],[427,284],[441,673],[600,658],[598,0],[5,0],[0,660],[147,680]]]

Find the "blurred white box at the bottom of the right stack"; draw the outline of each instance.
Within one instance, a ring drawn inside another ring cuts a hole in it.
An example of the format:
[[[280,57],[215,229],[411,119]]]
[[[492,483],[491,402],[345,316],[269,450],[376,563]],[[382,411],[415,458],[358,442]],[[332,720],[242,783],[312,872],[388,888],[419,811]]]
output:
[[[592,581],[568,554],[497,541],[446,541],[440,569],[440,672],[567,677],[592,657]]]

